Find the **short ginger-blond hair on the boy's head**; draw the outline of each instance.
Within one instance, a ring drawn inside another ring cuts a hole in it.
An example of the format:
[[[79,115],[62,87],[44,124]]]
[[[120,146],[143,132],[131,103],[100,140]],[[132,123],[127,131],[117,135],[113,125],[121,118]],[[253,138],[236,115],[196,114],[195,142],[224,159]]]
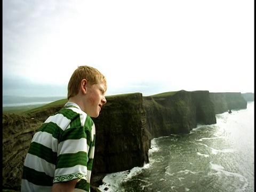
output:
[[[90,66],[78,66],[69,79],[68,99],[78,94],[82,79],[86,79],[89,85],[103,82],[107,90],[106,78],[98,69]]]

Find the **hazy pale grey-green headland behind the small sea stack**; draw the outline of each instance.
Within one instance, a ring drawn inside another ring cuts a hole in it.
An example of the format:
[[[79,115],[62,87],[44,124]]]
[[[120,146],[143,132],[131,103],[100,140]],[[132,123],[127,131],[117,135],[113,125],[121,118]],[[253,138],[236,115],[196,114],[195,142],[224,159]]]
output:
[[[247,101],[241,93],[210,93],[215,114],[221,114],[229,109],[246,109]]]

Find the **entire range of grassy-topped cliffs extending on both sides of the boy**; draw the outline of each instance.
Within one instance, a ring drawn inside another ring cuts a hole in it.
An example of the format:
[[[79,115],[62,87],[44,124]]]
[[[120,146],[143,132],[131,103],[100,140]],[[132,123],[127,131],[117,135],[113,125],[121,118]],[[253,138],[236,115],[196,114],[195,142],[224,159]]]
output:
[[[35,131],[64,104],[40,108],[24,115],[3,115],[4,189],[19,188],[23,162]],[[215,114],[246,106],[241,93],[182,90],[151,97],[142,97],[141,93],[107,97],[107,104],[99,117],[93,118],[96,146],[92,185],[101,184],[98,175],[102,179],[106,173],[148,163],[151,139],[173,133],[189,133],[198,123],[216,123]]]

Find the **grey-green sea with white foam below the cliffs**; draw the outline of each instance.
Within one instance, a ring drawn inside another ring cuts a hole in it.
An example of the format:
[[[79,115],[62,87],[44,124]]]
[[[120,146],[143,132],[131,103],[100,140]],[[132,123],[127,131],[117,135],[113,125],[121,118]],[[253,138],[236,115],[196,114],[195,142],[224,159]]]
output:
[[[111,173],[102,191],[254,191],[254,102],[186,135],[151,140],[149,164]]]

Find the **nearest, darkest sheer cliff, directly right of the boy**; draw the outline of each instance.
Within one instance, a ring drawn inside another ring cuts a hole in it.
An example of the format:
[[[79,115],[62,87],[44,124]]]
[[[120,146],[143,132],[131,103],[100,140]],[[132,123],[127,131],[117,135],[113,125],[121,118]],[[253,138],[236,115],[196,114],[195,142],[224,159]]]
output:
[[[150,133],[142,94],[117,95],[107,100],[96,127],[93,174],[113,173],[148,163]]]

